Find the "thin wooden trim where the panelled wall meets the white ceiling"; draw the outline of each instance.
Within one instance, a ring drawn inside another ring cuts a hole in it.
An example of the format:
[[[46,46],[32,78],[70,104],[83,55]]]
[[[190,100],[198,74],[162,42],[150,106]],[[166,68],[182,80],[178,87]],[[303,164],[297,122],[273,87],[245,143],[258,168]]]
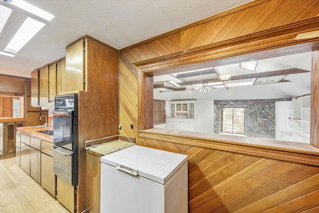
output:
[[[169,32],[165,32],[163,34],[160,34],[158,36],[155,36],[155,37],[152,37],[152,38],[149,38],[149,39],[146,39],[144,41],[141,41],[139,43],[136,43],[136,44],[133,44],[131,46],[128,46],[128,47],[125,47],[125,48],[122,48],[120,49],[119,51],[120,52],[124,52],[126,50],[129,50],[129,49],[132,49],[134,47],[137,47],[137,46],[141,46],[143,44],[146,44],[146,43],[149,43],[151,41],[155,41],[155,40],[158,40],[162,37],[165,37],[165,36],[169,36],[169,35],[172,35],[172,34],[175,34],[175,33],[178,33],[180,31],[183,31],[183,30],[186,30],[186,29],[189,29],[191,27],[195,27],[195,26],[198,26],[200,24],[203,24],[203,23],[206,23],[206,22],[209,22],[209,21],[212,21],[214,19],[217,19],[217,18],[221,18],[223,16],[226,16],[226,15],[229,15],[229,14],[232,14],[232,13],[235,13],[235,12],[239,12],[243,9],[247,9],[247,8],[250,8],[250,7],[254,7],[258,4],[261,4],[261,3],[264,3],[264,2],[267,2],[269,0],[253,0],[253,1],[250,1],[250,2],[247,2],[245,4],[242,4],[242,5],[239,5],[237,7],[234,7],[234,8],[231,8],[231,9],[228,9],[228,10],[225,10],[225,11],[222,11],[222,12],[219,12],[217,14],[214,14],[212,16],[209,16],[207,18],[204,18],[204,19],[201,19],[199,21],[195,21],[193,23],[190,23],[190,24],[187,24],[185,26],[182,26],[182,27],[179,27],[177,29],[173,29]]]

